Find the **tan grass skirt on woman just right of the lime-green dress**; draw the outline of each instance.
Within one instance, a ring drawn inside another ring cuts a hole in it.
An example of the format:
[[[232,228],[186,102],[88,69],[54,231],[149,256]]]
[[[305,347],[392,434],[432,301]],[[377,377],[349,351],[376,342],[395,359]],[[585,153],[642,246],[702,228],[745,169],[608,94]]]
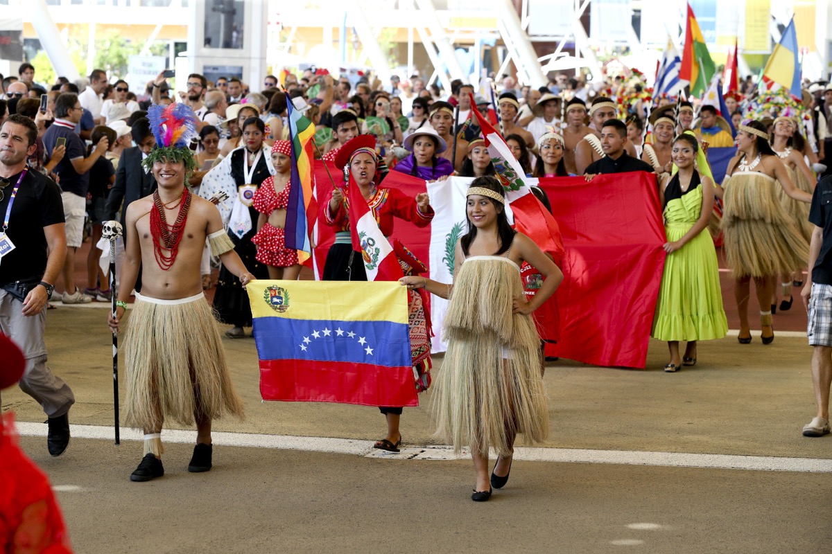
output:
[[[809,243],[780,204],[775,179],[739,172],[723,186],[726,262],[735,277],[788,274],[806,265]]]

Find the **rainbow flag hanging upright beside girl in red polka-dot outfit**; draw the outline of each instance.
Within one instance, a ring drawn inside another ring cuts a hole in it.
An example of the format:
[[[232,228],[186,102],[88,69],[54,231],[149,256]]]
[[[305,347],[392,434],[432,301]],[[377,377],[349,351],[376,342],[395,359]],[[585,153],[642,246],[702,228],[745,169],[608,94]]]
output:
[[[289,141],[292,145],[291,189],[289,190],[289,207],[286,208],[286,248],[295,248],[301,263],[312,256],[310,234],[318,214],[318,204],[314,199],[314,173],[312,154],[314,125],[300,111],[294,109],[291,102],[286,102],[289,110]]]

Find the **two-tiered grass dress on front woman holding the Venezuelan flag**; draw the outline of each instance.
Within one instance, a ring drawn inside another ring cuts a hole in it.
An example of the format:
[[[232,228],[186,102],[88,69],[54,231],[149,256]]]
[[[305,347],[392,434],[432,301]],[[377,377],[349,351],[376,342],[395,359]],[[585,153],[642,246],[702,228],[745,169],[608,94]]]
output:
[[[507,257],[469,257],[454,278],[444,321],[448,351],[435,378],[437,434],[503,456],[514,434],[529,444],[548,434],[540,339],[530,316],[513,314],[520,272]]]

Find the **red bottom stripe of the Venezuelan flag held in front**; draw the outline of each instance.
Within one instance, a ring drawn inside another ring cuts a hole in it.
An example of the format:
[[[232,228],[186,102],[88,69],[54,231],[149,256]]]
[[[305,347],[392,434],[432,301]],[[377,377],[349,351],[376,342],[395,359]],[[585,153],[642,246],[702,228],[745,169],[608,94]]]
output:
[[[418,406],[412,367],[260,360],[260,395],[284,402]]]

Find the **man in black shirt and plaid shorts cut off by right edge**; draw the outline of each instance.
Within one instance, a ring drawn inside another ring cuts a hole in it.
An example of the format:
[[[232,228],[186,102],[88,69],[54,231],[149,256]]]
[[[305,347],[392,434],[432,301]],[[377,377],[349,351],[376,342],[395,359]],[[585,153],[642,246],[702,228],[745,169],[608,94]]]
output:
[[[805,437],[830,432],[832,383],[832,176],[820,179],[812,195],[809,221],[815,224],[809,247],[809,276],[800,292],[809,311],[806,335],[812,349],[812,382],[818,414],[803,428]]]

